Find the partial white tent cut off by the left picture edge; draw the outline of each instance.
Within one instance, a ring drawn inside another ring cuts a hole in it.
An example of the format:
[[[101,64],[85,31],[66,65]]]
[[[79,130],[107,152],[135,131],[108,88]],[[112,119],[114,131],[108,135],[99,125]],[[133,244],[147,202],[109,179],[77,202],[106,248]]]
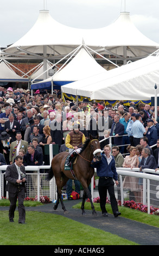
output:
[[[0,60],[0,82],[28,82],[28,78],[18,76],[6,60]]]

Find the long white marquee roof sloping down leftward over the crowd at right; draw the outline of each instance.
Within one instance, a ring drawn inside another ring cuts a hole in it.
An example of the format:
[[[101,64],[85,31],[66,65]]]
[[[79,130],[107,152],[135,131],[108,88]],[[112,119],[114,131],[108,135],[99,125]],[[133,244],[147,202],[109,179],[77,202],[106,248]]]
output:
[[[62,86],[62,93],[91,100],[150,100],[155,83],[159,84],[157,55]]]

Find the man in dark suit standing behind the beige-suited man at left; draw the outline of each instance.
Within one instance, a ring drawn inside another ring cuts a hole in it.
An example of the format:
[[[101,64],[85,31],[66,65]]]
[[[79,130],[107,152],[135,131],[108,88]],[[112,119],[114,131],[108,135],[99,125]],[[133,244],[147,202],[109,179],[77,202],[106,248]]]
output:
[[[21,132],[20,123],[14,120],[13,114],[10,114],[8,118],[9,120],[4,124],[4,131],[10,135],[12,141],[16,141],[16,133]]]

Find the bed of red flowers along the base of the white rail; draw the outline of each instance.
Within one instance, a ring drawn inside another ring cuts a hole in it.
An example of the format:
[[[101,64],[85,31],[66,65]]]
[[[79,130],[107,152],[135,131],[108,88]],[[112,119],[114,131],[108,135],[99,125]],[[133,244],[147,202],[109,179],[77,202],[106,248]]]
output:
[[[90,199],[87,200],[87,202],[90,202]],[[96,197],[93,199],[93,203],[100,203],[100,197]],[[110,204],[110,200],[106,198],[106,204]],[[120,200],[118,200],[118,205],[122,206],[122,203]],[[135,209],[142,212],[148,212],[148,206],[144,205],[142,203],[136,203],[135,201],[124,201],[123,205],[127,208]],[[153,206],[150,206],[150,214],[159,215],[159,209],[155,208]]]

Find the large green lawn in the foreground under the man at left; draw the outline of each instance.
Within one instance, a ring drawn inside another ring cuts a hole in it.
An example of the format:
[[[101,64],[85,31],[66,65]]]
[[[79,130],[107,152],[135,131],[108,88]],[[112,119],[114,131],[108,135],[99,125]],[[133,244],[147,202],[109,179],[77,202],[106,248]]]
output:
[[[103,230],[69,218],[27,211],[26,225],[9,222],[8,211],[0,211],[0,245],[137,245]]]

